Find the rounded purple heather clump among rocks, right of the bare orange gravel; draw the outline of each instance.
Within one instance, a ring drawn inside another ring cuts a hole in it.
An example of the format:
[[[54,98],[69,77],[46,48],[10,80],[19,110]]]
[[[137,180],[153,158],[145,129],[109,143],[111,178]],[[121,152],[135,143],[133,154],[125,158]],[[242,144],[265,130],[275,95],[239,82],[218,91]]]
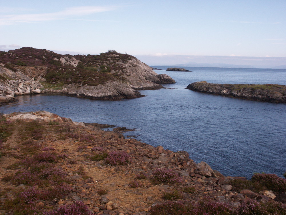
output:
[[[180,173],[176,172],[173,169],[156,169],[153,171],[153,176],[151,178],[152,183],[181,183],[182,177]]]

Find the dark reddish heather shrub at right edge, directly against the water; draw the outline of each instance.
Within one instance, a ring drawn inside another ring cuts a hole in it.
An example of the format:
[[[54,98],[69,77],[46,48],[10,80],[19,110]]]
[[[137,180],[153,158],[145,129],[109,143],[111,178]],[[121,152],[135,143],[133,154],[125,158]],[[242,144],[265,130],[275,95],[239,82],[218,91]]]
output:
[[[275,174],[257,173],[252,176],[251,181],[257,182],[274,192],[286,191],[286,179],[280,178]]]

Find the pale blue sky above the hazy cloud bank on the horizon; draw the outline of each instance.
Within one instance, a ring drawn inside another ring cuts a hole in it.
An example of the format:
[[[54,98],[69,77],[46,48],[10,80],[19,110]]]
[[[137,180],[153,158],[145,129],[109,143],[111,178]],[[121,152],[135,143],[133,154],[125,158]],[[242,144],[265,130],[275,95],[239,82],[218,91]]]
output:
[[[285,11],[285,0],[0,0],[0,50],[277,57],[286,65]]]

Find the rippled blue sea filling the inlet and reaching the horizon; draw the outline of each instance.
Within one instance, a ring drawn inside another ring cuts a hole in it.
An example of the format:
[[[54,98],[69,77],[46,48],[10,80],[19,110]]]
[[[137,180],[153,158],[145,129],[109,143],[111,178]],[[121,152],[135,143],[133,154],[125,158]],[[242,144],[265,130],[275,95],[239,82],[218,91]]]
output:
[[[196,163],[205,161],[225,176],[251,178],[253,173],[286,171],[286,104],[250,101],[186,89],[190,83],[286,85],[286,69],[184,67],[166,71],[175,79],[146,97],[97,101],[65,95],[25,95],[0,112],[46,110],[76,122],[135,128],[124,135],[152,146],[185,150]]]

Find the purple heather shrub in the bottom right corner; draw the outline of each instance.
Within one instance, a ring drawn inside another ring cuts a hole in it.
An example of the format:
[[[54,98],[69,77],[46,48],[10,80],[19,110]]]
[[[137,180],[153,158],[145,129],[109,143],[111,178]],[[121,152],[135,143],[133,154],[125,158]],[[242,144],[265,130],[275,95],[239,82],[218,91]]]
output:
[[[267,203],[259,203],[256,200],[249,199],[242,202],[238,208],[239,215],[285,215],[286,205],[281,202],[269,201]]]

